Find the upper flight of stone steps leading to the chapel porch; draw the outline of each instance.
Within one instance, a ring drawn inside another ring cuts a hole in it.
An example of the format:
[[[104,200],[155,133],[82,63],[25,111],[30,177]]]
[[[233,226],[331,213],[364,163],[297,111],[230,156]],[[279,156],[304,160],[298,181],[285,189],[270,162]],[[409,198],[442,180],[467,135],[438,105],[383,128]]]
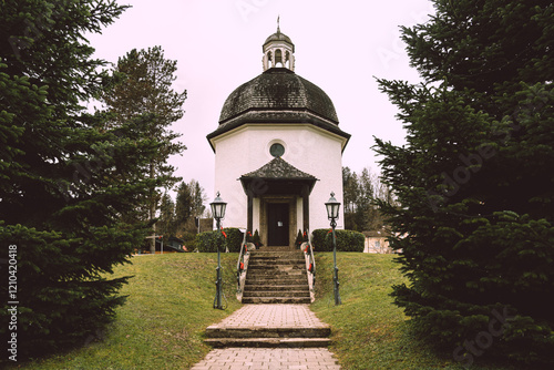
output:
[[[261,247],[250,251],[243,304],[311,302],[301,250]]]

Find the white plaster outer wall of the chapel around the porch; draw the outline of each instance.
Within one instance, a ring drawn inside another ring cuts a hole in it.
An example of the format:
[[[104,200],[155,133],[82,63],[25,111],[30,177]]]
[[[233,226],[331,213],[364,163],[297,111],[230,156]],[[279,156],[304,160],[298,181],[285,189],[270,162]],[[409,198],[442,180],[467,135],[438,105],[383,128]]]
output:
[[[325,203],[330,193],[335,192],[342,204],[345,140],[310,124],[244,125],[212,141],[216,152],[215,191],[219,191],[227,202],[224,226],[246,227],[247,198],[238,178],[271,161],[269,147],[276,142],[285,146],[285,161],[319,179],[310,195],[310,228],[329,227]],[[255,212],[254,215],[254,224],[257,224],[259,214]],[[342,228],[342,225],[341,207],[337,227]]]

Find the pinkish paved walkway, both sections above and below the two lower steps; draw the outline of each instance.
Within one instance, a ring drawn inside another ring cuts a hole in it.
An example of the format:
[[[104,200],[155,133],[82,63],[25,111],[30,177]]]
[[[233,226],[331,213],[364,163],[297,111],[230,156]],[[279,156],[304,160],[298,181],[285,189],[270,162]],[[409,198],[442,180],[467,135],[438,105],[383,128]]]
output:
[[[308,305],[245,305],[217,328],[325,327]],[[214,349],[193,370],[339,370],[327,348],[224,348]]]

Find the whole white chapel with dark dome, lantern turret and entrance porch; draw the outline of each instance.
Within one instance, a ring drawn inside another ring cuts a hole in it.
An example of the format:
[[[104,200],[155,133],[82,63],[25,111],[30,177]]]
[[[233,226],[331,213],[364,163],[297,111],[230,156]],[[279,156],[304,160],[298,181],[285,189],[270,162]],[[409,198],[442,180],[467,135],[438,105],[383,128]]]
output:
[[[291,246],[298,230],[329,227],[331,192],[343,203],[350,135],[329,96],[295,73],[295,44],[279,27],[263,52],[264,72],[230,93],[207,140],[215,191],[227,203],[225,227],[258,230],[267,246]]]

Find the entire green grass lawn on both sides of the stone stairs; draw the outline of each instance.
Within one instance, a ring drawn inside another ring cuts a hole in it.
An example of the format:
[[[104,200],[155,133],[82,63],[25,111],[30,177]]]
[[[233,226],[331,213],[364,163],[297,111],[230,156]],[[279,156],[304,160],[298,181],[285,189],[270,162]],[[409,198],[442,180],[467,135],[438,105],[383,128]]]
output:
[[[204,330],[240,307],[235,298],[237,254],[222,254],[226,310],[213,309],[216,254],[133,257],[116,276],[134,276],[105,333],[86,346],[10,369],[188,369],[211,350]],[[317,300],[311,309],[331,325],[331,351],[342,369],[464,369],[452,353],[442,357],[410,336],[391,286],[403,281],[391,255],[339,253],[340,296],[332,296],[332,254],[317,254]],[[475,370],[486,367],[475,358]]]

